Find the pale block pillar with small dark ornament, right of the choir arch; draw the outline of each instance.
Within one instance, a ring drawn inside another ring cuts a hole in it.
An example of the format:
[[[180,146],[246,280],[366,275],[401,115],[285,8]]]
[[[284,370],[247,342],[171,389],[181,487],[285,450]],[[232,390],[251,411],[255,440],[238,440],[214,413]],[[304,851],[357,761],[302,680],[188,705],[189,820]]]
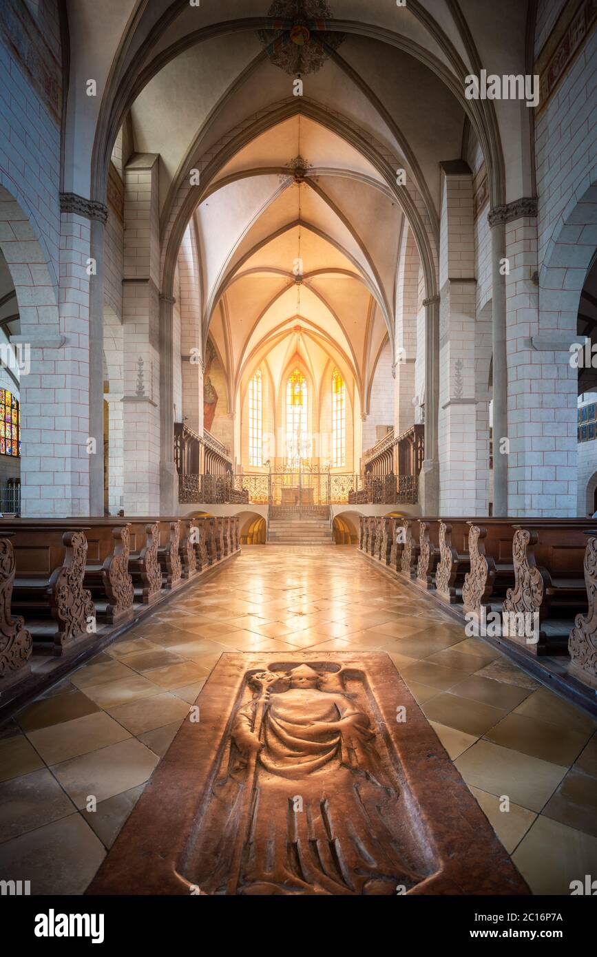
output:
[[[463,163],[443,166],[439,511],[476,516],[487,514],[489,474],[487,456],[479,456],[477,443],[473,176]]]

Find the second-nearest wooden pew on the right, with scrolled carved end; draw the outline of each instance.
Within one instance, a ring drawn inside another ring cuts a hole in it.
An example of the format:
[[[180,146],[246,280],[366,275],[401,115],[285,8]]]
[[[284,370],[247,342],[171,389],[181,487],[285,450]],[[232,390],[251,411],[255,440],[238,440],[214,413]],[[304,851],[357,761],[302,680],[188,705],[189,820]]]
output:
[[[513,539],[515,583],[503,614],[528,615],[539,622],[532,641],[510,634],[531,655],[567,655],[571,621],[585,613],[586,531],[592,519],[520,519]]]

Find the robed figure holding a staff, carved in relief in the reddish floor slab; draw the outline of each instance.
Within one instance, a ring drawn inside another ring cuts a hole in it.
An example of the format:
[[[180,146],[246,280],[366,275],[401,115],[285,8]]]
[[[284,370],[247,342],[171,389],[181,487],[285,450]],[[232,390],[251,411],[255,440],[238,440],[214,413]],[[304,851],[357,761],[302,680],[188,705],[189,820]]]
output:
[[[335,667],[252,676],[184,868],[202,892],[393,895],[426,876],[385,746]]]

